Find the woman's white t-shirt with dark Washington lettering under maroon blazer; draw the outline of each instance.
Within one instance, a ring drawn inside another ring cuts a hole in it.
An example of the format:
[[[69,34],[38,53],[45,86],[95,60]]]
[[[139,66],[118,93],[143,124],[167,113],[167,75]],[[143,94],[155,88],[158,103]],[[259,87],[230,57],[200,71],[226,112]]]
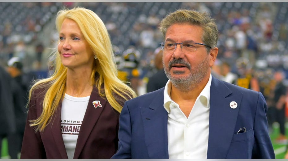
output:
[[[68,155],[73,159],[75,147],[90,96],[73,97],[65,93],[61,110],[61,132]]]

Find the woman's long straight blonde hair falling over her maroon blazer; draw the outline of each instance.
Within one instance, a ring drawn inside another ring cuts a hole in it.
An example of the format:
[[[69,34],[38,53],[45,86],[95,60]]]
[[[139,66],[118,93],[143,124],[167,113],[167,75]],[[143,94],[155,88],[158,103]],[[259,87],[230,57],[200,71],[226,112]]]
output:
[[[98,88],[100,96],[107,99],[116,111],[121,112],[123,100],[126,101],[137,95],[117,77],[118,71],[113,48],[104,23],[91,10],[82,7],[75,7],[71,10],[62,9],[57,13],[57,31],[60,31],[63,21],[67,18],[74,20],[78,24],[84,38],[98,58],[94,60],[91,82]],[[56,111],[60,101],[62,101],[65,92],[67,67],[62,65],[60,54],[56,50],[54,57],[54,73],[51,77],[41,79],[35,83],[29,92],[30,100],[35,89],[48,86],[48,90],[45,91],[43,111],[40,117],[36,120],[30,120],[30,126],[37,126],[36,131],[43,131],[51,121],[50,118]],[[98,75],[97,78],[95,78],[95,74]]]

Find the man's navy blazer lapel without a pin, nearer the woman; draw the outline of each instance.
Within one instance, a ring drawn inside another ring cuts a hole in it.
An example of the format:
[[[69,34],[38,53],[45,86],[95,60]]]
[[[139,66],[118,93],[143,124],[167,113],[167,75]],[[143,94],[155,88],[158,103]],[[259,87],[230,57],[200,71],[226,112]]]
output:
[[[144,105],[140,107],[145,143],[149,158],[168,159],[168,113],[163,107],[164,88],[153,95],[153,98],[148,107],[144,107]]]

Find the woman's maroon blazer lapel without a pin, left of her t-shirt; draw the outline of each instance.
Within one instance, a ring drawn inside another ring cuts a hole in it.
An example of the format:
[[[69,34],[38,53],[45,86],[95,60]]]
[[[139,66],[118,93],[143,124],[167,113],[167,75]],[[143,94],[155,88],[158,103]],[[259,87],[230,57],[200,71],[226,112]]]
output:
[[[53,139],[55,141],[55,147],[58,148],[58,151],[55,151],[59,153],[58,156],[61,156],[62,159],[68,159],[61,133],[61,108],[62,103],[59,104],[59,107],[56,109],[56,112],[51,117],[51,123],[49,123],[49,125],[45,128],[45,131],[51,131]]]

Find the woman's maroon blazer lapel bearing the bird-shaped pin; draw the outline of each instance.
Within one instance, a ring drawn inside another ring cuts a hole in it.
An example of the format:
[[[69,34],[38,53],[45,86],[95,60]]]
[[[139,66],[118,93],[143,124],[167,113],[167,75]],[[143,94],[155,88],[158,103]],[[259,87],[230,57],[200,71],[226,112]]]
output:
[[[93,105],[93,101],[100,101],[101,107],[95,108]],[[73,157],[74,159],[77,159],[79,157],[86,143],[86,140],[88,139],[88,136],[90,135],[93,127],[95,126],[97,120],[101,115],[101,112],[103,111],[103,108],[105,107],[105,104],[106,100],[100,97],[98,89],[94,86],[92,93],[90,95],[89,103],[78,135],[75,147],[75,153]]]

